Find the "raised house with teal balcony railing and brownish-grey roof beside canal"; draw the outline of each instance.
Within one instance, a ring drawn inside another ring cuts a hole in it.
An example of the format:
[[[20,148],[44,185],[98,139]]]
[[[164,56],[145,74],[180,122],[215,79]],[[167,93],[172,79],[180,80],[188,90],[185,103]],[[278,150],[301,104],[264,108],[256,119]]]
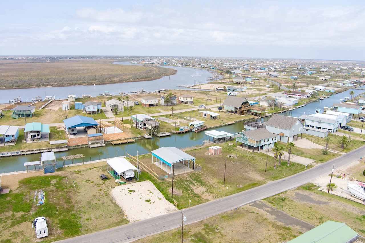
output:
[[[258,128],[254,130],[248,130],[244,132],[238,132],[235,134],[236,144],[241,143],[241,146],[252,148],[252,151],[266,148],[272,148],[274,143],[277,142],[278,135],[273,134],[266,130],[266,128]]]

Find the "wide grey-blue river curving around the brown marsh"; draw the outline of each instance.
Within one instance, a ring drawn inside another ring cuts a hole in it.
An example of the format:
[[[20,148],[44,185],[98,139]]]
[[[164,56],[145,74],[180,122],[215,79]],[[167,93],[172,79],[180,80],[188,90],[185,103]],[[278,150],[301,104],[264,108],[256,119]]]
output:
[[[130,62],[114,62],[115,65],[139,65]],[[56,99],[65,99],[71,93],[76,96],[91,95],[97,96],[105,91],[112,95],[118,95],[119,91],[129,93],[141,88],[154,92],[156,89],[187,89],[178,85],[194,85],[197,82],[207,81],[212,74],[206,70],[193,69],[190,67],[163,66],[177,70],[177,74],[165,76],[151,81],[124,82],[105,85],[76,85],[66,87],[42,87],[33,89],[2,89],[0,90],[0,103],[8,103],[15,97],[22,97],[22,101],[31,101],[35,96],[55,96]]]

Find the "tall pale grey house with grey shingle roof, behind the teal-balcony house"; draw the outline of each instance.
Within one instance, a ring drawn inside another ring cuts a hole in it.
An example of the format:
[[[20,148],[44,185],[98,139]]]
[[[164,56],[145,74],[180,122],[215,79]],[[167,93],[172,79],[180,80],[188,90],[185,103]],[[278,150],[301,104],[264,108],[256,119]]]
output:
[[[279,141],[284,143],[293,142],[295,136],[298,139],[298,135],[301,138],[304,127],[298,118],[278,114],[273,114],[264,125],[266,130],[277,134]]]

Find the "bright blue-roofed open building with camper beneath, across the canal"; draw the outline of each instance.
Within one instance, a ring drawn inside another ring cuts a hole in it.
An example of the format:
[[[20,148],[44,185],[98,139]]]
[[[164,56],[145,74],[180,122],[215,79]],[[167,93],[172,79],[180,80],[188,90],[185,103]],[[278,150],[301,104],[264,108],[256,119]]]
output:
[[[73,116],[64,120],[66,134],[77,135],[77,132],[86,133],[89,127],[97,127],[97,123],[91,117],[86,116]],[[77,129],[78,127],[82,128]]]

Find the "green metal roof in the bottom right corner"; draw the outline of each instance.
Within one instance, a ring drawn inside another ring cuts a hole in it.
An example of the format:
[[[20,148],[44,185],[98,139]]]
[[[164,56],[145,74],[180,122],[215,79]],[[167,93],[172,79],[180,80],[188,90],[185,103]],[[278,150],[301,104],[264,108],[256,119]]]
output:
[[[357,236],[345,223],[328,220],[288,243],[344,243]]]

